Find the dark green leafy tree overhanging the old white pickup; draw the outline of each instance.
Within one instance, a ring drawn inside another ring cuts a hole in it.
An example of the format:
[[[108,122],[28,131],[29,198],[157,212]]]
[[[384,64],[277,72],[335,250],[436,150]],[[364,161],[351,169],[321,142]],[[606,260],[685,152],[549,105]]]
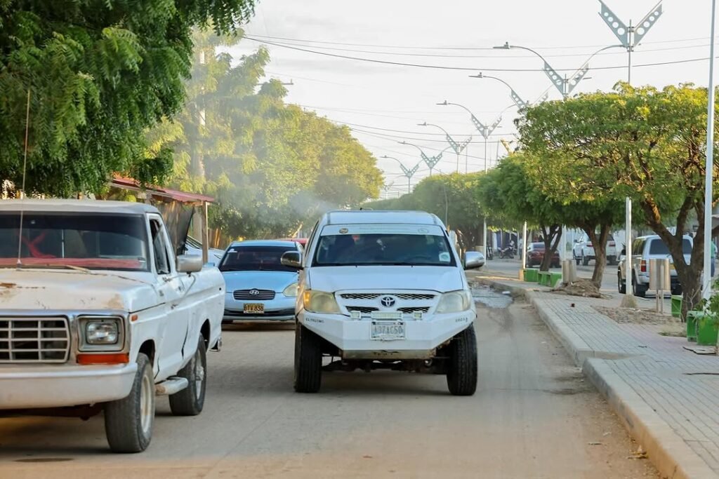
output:
[[[173,158],[145,129],[183,105],[192,28],[232,34],[254,0],[0,1],[0,179],[94,192],[113,172],[161,182]]]

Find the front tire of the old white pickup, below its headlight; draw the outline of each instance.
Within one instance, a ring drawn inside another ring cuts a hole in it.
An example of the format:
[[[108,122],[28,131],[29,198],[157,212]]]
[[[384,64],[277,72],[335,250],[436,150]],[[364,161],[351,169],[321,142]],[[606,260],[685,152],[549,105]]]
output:
[[[105,434],[112,452],[142,452],[152,439],[155,422],[155,379],[147,355],[137,355],[130,394],[105,404]]]

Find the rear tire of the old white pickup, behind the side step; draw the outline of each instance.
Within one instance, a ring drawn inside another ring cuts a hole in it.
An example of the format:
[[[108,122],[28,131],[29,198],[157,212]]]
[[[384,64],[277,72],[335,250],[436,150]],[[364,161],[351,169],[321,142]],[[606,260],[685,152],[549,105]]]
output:
[[[192,359],[177,375],[186,378],[190,384],[182,391],[170,394],[170,411],[175,416],[197,416],[205,406],[207,390],[207,352],[202,336]]]

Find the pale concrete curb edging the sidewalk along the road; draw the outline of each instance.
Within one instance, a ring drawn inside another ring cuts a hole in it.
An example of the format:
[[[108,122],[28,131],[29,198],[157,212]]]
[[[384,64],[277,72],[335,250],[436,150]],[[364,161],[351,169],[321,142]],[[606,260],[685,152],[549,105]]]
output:
[[[719,478],[719,475],[684,442],[682,437],[679,437],[674,429],[610,368],[606,361],[610,360],[612,356],[616,356],[615,353],[592,350],[580,335],[572,331],[564,321],[554,317],[551,311],[546,310],[537,301],[536,293],[531,289],[482,278],[482,276],[472,279],[494,289],[509,290],[514,297],[524,297],[533,305],[541,320],[549,327],[559,343],[562,343],[567,353],[572,356],[574,363],[582,368],[582,373],[612,406],[631,437],[644,447],[661,477],[671,479]]]

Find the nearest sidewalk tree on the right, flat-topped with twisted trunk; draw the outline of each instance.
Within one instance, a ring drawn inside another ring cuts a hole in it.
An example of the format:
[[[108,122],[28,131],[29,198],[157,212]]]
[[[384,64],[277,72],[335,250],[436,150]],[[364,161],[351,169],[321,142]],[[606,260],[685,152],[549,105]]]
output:
[[[701,296],[706,106],[707,90],[692,85],[658,90],[620,83],[610,93],[533,106],[520,126],[523,147],[544,164],[547,195],[560,201],[633,198],[669,247],[684,311]],[[692,213],[699,228],[687,264],[682,235]]]

